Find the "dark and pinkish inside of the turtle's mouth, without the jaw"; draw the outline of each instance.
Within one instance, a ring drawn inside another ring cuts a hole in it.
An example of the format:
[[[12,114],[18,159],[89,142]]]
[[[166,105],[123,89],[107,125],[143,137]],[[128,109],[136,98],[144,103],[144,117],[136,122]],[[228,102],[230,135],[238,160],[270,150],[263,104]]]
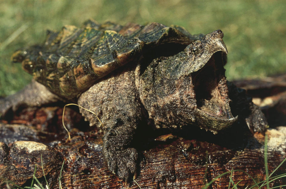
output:
[[[228,105],[223,56],[221,51],[214,53],[203,68],[192,74],[192,79],[197,108],[213,117],[229,119],[233,116]]]

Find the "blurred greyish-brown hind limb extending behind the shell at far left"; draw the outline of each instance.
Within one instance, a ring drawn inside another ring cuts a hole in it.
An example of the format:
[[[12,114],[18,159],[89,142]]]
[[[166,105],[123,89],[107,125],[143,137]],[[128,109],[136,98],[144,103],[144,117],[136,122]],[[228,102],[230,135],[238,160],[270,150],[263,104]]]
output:
[[[33,80],[24,89],[0,99],[0,114],[5,116],[9,110],[15,112],[20,106],[41,106],[56,101],[59,101],[59,97]]]

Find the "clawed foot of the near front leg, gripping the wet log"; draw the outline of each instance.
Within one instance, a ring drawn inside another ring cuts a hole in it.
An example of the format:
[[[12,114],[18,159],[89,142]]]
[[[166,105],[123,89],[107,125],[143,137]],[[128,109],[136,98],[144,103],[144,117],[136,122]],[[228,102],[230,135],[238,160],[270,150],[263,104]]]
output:
[[[128,148],[123,151],[108,153],[108,155],[108,168],[112,173],[119,178],[125,179],[125,181],[133,174],[136,176],[136,149]]]

